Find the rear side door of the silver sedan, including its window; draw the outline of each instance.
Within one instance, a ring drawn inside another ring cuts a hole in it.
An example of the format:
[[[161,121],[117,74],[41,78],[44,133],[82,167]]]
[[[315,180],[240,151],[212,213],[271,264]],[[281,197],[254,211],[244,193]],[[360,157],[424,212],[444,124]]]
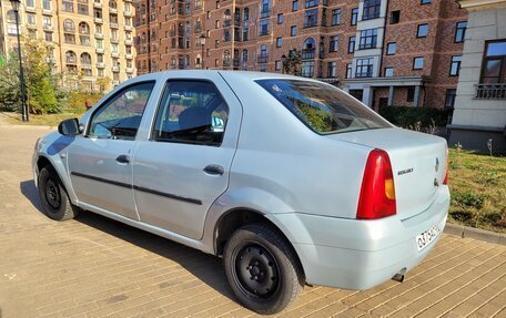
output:
[[[142,222],[199,239],[206,213],[226,191],[242,109],[216,73],[169,80],[150,139],[134,156]]]

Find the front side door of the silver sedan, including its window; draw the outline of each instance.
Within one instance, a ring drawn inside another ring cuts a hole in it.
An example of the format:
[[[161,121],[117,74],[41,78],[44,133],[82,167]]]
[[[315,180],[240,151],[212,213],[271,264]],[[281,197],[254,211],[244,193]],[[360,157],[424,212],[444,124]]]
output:
[[[154,82],[130,85],[91,114],[68,152],[70,178],[84,207],[139,219],[133,201],[132,152]]]

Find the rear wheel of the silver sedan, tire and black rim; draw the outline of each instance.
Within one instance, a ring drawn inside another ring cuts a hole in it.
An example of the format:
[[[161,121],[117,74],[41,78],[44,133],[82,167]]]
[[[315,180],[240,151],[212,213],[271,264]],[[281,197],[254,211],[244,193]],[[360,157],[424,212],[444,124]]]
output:
[[[235,230],[226,243],[223,261],[226,279],[239,301],[255,312],[280,312],[303,288],[295,252],[266,224]]]

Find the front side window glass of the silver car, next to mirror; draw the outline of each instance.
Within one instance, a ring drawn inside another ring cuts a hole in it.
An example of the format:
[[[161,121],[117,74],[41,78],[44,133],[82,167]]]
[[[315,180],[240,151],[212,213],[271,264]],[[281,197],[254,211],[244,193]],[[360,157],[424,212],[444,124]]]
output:
[[[91,117],[88,135],[134,140],[154,82],[130,86],[102,105]]]

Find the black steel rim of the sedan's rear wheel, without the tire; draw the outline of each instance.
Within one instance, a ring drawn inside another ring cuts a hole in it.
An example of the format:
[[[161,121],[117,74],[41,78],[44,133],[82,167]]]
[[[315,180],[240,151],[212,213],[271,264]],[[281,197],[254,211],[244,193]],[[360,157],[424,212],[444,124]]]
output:
[[[280,268],[265,246],[246,242],[235,248],[232,261],[235,285],[244,296],[267,301],[279,293]]]

